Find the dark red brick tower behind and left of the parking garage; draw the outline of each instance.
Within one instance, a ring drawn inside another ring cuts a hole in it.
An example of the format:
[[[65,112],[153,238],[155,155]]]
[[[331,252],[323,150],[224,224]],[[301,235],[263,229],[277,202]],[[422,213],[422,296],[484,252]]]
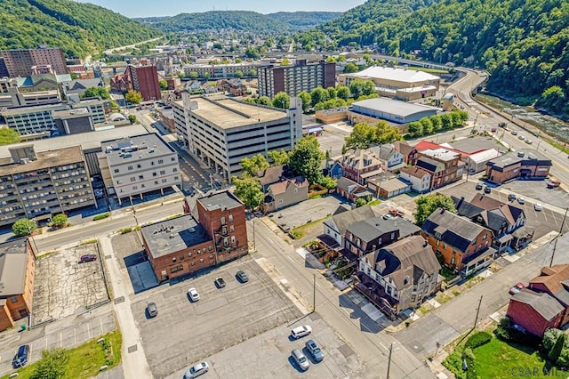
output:
[[[126,67],[124,74],[116,74],[110,80],[111,90],[125,93],[131,90],[138,91],[143,101],[159,101],[162,99],[160,84],[158,83],[158,71],[156,66]]]

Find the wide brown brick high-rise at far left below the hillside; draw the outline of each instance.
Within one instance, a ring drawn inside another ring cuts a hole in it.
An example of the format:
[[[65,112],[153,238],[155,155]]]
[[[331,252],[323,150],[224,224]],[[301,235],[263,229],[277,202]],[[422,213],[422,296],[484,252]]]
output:
[[[65,56],[60,47],[3,50],[2,56],[10,77],[29,77],[32,67],[51,66],[55,74],[68,74]]]

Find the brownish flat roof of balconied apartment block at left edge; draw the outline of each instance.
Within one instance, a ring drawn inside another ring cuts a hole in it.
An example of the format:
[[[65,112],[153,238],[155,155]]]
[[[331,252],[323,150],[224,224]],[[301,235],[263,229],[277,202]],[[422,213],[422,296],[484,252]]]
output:
[[[12,145],[10,145],[12,146]],[[26,165],[14,163],[12,157],[0,159],[0,175],[13,173],[28,173],[29,171],[39,170],[69,163],[83,162],[83,153],[80,146],[73,146],[65,149],[48,150],[38,153],[36,160],[29,161]]]

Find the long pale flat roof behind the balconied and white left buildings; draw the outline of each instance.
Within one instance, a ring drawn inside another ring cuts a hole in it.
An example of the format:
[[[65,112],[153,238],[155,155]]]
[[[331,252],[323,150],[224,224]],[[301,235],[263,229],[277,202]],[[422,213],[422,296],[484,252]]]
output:
[[[113,127],[100,131],[95,130],[94,132],[61,135],[59,137],[45,138],[43,140],[14,143],[12,145],[0,146],[0,160],[2,160],[4,157],[10,157],[9,149],[19,148],[21,146],[27,146],[29,144],[34,145],[36,153],[38,151],[64,149],[70,148],[72,146],[81,146],[81,148],[84,150],[100,149],[100,142],[102,141],[108,141],[110,139],[116,138],[126,138],[131,135],[140,135],[144,133],[148,133],[144,126],[128,125],[122,127]]]

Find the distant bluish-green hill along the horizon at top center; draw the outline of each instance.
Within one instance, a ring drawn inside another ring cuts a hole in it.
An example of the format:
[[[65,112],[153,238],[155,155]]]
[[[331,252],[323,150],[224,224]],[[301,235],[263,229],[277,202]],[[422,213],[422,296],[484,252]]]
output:
[[[339,12],[277,12],[261,14],[249,11],[211,11],[180,13],[169,18],[135,19],[164,32],[230,29],[258,35],[292,33],[333,20]]]

